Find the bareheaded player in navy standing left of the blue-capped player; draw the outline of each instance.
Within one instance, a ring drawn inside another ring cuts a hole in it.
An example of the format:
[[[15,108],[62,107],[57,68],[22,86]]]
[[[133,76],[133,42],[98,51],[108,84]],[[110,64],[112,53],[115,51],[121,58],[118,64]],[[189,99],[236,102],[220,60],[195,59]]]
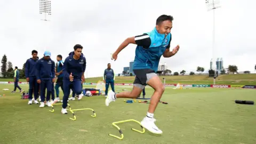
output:
[[[28,59],[25,63],[25,76],[26,80],[29,83],[29,101],[28,105],[32,104],[32,94],[34,92],[34,103],[38,104],[38,89],[39,84],[36,82],[36,62],[38,60],[37,51],[32,51],[32,58]]]

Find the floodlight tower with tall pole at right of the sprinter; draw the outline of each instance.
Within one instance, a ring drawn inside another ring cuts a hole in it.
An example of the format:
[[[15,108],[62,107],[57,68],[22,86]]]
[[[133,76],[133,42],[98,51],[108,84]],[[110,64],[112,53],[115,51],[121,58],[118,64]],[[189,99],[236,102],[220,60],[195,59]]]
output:
[[[213,11],[213,31],[212,31],[212,69],[214,72],[213,84],[215,84],[215,78],[217,77],[217,62],[215,53],[215,9],[220,8],[220,0],[205,0],[207,11]]]

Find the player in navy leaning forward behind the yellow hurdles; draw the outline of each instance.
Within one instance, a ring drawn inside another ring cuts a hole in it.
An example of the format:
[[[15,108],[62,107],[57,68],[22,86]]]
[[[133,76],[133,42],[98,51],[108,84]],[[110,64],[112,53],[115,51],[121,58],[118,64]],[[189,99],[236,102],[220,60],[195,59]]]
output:
[[[74,46],[74,52],[71,52],[65,59],[62,73],[63,73],[63,105],[61,109],[62,114],[67,114],[67,103],[70,93],[70,89],[73,89],[77,95],[78,100],[82,99],[82,86],[81,84],[85,81],[84,71],[86,67],[86,59],[82,53],[83,46],[76,44]]]

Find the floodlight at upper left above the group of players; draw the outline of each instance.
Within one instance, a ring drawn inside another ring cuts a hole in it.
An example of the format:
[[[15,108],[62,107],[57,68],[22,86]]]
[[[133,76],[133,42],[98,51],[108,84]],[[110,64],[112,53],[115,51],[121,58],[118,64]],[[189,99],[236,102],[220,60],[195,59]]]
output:
[[[41,19],[42,21],[44,21],[44,26],[45,26],[45,30],[44,30],[44,33],[45,36],[44,36],[44,39],[46,39],[48,36],[47,36],[47,31],[46,31],[46,22],[49,22],[50,19],[48,18],[49,16],[52,15],[52,12],[51,12],[51,0],[39,0],[39,14],[42,15],[44,18]],[[44,51],[46,50],[46,46],[44,47]]]

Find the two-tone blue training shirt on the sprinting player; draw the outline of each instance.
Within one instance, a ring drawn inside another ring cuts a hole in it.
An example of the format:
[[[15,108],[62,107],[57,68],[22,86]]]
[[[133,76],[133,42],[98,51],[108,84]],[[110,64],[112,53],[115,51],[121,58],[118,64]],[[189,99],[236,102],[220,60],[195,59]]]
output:
[[[170,49],[171,33],[166,37],[159,34],[156,28],[143,35],[135,36],[137,44],[133,69],[158,69],[159,60],[166,49]]]

